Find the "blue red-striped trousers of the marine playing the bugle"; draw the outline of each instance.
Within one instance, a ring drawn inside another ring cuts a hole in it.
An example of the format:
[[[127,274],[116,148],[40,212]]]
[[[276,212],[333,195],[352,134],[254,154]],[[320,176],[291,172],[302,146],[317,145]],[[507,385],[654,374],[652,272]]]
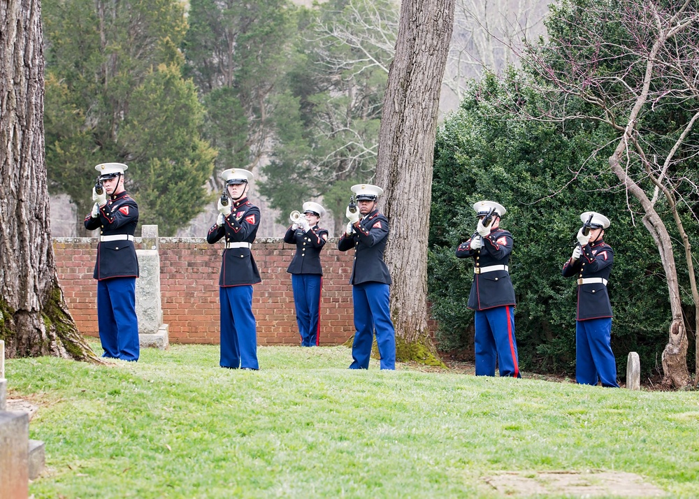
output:
[[[315,347],[319,342],[322,282],[323,276],[320,274],[291,274],[296,324],[298,333],[301,334],[302,347]]]

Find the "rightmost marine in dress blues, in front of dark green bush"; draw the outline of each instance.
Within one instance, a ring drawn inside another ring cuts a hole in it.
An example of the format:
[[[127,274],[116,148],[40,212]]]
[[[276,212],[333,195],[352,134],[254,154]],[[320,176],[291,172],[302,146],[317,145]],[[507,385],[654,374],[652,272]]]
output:
[[[614,264],[614,251],[605,243],[610,220],[597,212],[584,212],[591,218],[591,231],[577,232],[578,245],[563,264],[563,277],[577,277],[577,317],[575,321],[575,379],[579,384],[618,388],[617,361],[612,353],[612,304],[607,281]]]

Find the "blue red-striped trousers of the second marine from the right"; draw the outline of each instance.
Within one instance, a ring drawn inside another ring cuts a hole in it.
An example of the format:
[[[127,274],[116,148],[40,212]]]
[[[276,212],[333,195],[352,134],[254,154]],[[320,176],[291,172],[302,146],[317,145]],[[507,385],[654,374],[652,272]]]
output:
[[[514,339],[514,309],[510,305],[475,311],[476,376],[521,377]]]

